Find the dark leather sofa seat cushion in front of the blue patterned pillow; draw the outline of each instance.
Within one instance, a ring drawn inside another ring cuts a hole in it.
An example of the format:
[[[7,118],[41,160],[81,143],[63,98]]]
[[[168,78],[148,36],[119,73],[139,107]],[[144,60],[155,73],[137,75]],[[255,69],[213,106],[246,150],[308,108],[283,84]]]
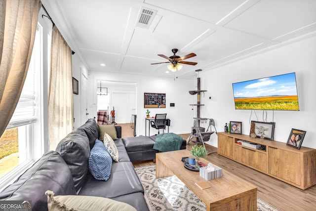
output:
[[[114,198],[130,193],[144,193],[133,164],[131,162],[115,162],[112,164],[108,181],[96,180],[88,173],[78,195]]]

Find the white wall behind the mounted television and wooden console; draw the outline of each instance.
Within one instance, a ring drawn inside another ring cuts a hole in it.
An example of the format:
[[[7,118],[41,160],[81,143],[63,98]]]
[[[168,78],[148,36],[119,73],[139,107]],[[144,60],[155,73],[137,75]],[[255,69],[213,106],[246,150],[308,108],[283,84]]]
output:
[[[262,111],[235,110],[232,83],[296,73],[300,111],[268,111],[267,122],[275,122],[275,140],[287,142],[291,128],[305,130],[302,146],[316,148],[316,36],[283,44],[278,48],[228,64],[209,72],[201,72],[201,87],[208,90],[211,100],[205,102],[201,114],[215,120],[218,131],[225,123],[242,122],[242,133],[249,134],[251,120],[263,122]],[[217,136],[209,141],[217,146]]]

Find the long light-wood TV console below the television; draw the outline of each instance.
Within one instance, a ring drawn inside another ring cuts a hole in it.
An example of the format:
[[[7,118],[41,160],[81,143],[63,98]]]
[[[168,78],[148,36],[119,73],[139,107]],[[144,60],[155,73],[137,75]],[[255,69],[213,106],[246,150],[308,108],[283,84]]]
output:
[[[316,184],[316,149],[296,149],[286,143],[251,138],[249,135],[218,132],[219,155],[305,190]],[[266,150],[237,144],[245,140],[266,146]]]

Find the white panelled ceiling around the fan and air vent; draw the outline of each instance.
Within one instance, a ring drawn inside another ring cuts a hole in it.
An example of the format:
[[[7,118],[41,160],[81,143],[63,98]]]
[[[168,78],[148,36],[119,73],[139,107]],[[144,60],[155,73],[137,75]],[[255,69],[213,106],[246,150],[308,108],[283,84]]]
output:
[[[195,78],[197,69],[316,31],[316,0],[41,1],[89,71]],[[135,26],[141,7],[157,10],[149,29]],[[196,53],[185,61],[197,65],[169,74],[167,64],[151,65],[172,48]]]

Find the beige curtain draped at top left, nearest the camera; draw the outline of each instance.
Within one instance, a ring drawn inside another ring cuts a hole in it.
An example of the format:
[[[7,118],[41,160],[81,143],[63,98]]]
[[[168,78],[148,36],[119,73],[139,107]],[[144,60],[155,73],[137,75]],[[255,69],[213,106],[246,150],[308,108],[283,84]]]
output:
[[[20,98],[40,6],[40,0],[0,0],[0,136]]]

